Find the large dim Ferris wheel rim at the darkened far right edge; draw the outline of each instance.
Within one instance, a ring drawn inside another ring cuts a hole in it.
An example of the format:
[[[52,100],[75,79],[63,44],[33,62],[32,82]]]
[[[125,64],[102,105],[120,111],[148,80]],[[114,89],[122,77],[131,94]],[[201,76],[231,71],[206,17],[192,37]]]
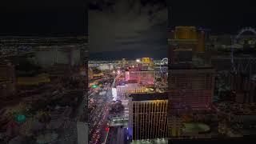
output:
[[[256,30],[254,30],[254,28],[251,27],[246,27],[243,28],[242,30],[240,30],[238,32],[238,34],[232,39],[232,46],[231,46],[231,54],[230,54],[230,59],[231,59],[231,64],[232,64],[232,71],[234,73],[238,73],[238,72],[244,72],[248,69],[250,69],[250,65],[252,64],[250,62],[250,58],[236,58],[236,54],[235,54],[235,44],[238,43],[238,40],[241,38],[242,34],[246,33],[246,32],[250,32],[254,35],[256,35]],[[237,49],[236,49],[237,50]]]

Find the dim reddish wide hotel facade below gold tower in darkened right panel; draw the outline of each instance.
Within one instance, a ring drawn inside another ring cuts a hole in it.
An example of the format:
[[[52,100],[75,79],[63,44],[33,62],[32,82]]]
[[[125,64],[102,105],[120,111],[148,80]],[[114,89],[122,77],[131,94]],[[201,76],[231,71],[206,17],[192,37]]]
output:
[[[170,109],[207,110],[213,99],[212,69],[170,70]]]

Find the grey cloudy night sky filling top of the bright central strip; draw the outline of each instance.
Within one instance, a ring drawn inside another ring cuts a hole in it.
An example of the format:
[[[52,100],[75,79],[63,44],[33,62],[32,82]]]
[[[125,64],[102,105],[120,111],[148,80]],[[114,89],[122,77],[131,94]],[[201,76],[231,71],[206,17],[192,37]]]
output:
[[[151,50],[161,41],[167,45],[167,9],[163,1],[96,0],[89,7],[90,53]]]

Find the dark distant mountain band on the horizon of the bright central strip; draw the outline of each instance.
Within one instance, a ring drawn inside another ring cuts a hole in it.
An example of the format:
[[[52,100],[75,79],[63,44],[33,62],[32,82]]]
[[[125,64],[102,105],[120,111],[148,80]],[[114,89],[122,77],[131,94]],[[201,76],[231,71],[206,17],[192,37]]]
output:
[[[98,53],[90,53],[90,60],[119,60],[122,58],[126,59],[136,59],[150,57],[154,59],[166,58],[168,57],[167,46],[166,48],[159,48],[148,50],[146,48],[139,50],[122,50],[122,51],[104,51]]]

